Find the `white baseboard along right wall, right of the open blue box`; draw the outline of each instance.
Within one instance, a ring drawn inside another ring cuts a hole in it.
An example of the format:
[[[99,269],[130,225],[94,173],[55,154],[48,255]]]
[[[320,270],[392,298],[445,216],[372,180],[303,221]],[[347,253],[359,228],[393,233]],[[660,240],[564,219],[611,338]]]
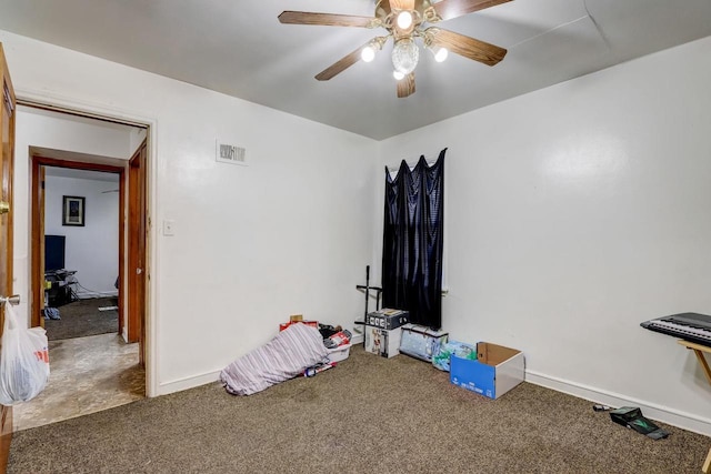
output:
[[[617,393],[605,392],[603,390],[593,389],[532,371],[525,371],[525,381],[547,389],[552,389],[557,392],[567,393],[579,399],[590,400],[591,402],[601,403],[612,407],[639,406],[647,418],[668,423],[672,426],[699,433],[704,436],[711,436],[711,420],[702,416],[655,405],[642,400],[630,399]]]

